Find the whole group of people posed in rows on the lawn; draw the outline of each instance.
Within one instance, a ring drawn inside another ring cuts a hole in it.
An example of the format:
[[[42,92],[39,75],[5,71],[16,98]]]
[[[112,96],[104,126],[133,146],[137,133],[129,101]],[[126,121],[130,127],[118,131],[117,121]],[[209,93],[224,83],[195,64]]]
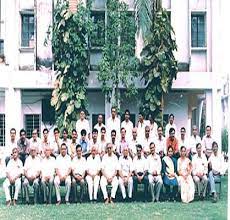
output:
[[[217,202],[215,181],[220,180],[225,169],[211,126],[206,126],[206,135],[201,140],[196,126],[191,137],[186,136],[184,127],[178,132],[173,114],[169,116],[165,136],[163,127],[151,116],[145,120],[142,113],[134,126],[129,110],[120,123],[116,108],[112,108],[106,122],[103,124],[103,116],[99,115],[91,132],[85,112],[81,111],[71,139],[67,129],[62,131],[61,139],[59,129],[55,128],[50,140],[45,128],[42,138],[34,129],[30,140],[22,129],[16,141],[16,130],[12,128],[5,160],[0,159],[6,205],[16,205],[21,188],[29,203],[31,186],[34,203],[40,188],[44,203],[51,203],[54,187],[56,204],[60,205],[61,186],[65,186],[67,204],[70,195],[73,201],[82,202],[86,188],[89,200],[98,201],[99,187],[105,203],[114,202],[118,187],[123,200],[132,201],[138,197],[138,184],[144,186],[144,201],[150,197],[158,202],[164,186],[166,200],[175,201],[180,195],[182,202],[189,203],[194,199],[195,189],[199,199],[205,198],[208,183],[212,201]],[[11,186],[15,187],[13,198]]]

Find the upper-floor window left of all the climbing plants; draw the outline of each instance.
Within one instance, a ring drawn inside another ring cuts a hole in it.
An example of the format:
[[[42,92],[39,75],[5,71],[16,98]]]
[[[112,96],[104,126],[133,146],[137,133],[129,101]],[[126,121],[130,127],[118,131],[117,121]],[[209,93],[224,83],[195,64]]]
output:
[[[22,47],[34,47],[34,15],[22,14]]]

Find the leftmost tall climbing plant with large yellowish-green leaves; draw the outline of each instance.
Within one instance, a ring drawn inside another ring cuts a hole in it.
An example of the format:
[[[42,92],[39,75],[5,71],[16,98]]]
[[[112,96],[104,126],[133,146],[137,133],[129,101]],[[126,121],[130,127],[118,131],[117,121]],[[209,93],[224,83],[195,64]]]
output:
[[[79,111],[85,109],[89,50],[87,36],[92,30],[89,8],[79,4],[72,14],[68,1],[58,1],[52,27],[52,50],[57,71],[51,105],[59,128],[75,127]],[[67,126],[68,125],[68,126]]]

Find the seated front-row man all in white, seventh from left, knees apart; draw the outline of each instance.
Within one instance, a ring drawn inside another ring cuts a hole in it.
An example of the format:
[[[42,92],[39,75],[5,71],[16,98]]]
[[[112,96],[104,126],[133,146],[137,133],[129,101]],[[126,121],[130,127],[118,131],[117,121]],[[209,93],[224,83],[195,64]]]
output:
[[[113,153],[113,145],[108,143],[106,146],[107,154],[102,158],[102,176],[101,176],[101,190],[104,196],[105,204],[113,203],[116,197],[118,179],[117,172],[119,170],[118,159]],[[108,184],[112,185],[111,195],[108,197],[108,192],[106,186]]]

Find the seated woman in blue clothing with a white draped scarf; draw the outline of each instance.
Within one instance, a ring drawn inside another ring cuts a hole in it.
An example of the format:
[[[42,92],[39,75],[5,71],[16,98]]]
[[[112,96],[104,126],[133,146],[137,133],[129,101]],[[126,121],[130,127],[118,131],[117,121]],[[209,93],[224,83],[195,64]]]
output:
[[[162,160],[162,176],[168,200],[175,201],[178,193],[177,162],[173,158],[173,148],[169,146],[167,156]]]

